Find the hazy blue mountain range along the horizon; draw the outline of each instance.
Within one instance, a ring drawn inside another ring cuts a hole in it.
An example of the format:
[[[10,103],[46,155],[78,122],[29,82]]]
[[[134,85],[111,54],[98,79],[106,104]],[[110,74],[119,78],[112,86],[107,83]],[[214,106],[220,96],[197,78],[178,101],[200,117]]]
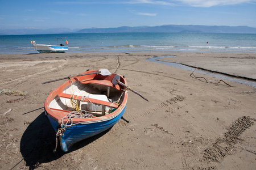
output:
[[[52,33],[118,33],[118,32],[168,32],[168,33],[256,33],[256,28],[247,26],[208,26],[208,25],[161,25],[155,27],[117,27],[117,28],[24,28],[0,29],[0,35],[34,35]]]

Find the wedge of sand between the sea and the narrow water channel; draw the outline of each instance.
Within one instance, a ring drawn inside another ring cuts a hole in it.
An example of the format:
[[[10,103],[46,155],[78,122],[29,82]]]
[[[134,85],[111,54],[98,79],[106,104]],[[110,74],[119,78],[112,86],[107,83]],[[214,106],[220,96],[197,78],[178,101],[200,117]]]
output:
[[[234,53],[174,53],[171,58],[160,61],[181,63],[217,73],[224,73],[256,80],[256,54]]]

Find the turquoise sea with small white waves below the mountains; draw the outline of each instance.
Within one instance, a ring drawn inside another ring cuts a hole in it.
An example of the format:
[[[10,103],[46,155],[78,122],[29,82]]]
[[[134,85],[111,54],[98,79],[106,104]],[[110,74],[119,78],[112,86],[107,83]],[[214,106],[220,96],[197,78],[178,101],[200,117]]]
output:
[[[30,44],[60,45],[68,53],[199,52],[256,53],[256,34],[237,33],[67,33],[2,35],[0,53],[37,53]]]

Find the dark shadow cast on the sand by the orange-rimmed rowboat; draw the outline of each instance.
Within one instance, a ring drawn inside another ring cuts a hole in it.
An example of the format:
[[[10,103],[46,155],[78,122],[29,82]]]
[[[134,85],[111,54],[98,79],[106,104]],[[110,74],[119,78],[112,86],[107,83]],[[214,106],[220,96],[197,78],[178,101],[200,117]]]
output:
[[[108,133],[110,129],[95,135],[94,137],[76,143],[72,146],[69,152],[88,145],[89,143],[102,137],[102,135]],[[56,133],[44,112],[41,113],[33,122],[31,122],[30,125],[28,125],[20,140],[20,152],[26,162],[26,165],[30,167],[29,169],[38,168],[40,164],[59,159],[61,156],[67,153],[61,151],[59,141],[57,150],[55,153],[53,153],[56,146],[55,135]]]

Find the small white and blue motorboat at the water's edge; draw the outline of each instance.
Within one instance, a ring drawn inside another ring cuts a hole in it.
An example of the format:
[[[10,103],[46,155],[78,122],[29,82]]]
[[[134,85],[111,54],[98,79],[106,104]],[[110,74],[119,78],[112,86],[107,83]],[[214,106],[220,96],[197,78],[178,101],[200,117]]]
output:
[[[65,40],[65,43],[68,45],[68,40]],[[65,53],[68,51],[68,46],[60,45],[46,45],[46,44],[36,44],[35,41],[31,41],[35,50],[39,53]]]

